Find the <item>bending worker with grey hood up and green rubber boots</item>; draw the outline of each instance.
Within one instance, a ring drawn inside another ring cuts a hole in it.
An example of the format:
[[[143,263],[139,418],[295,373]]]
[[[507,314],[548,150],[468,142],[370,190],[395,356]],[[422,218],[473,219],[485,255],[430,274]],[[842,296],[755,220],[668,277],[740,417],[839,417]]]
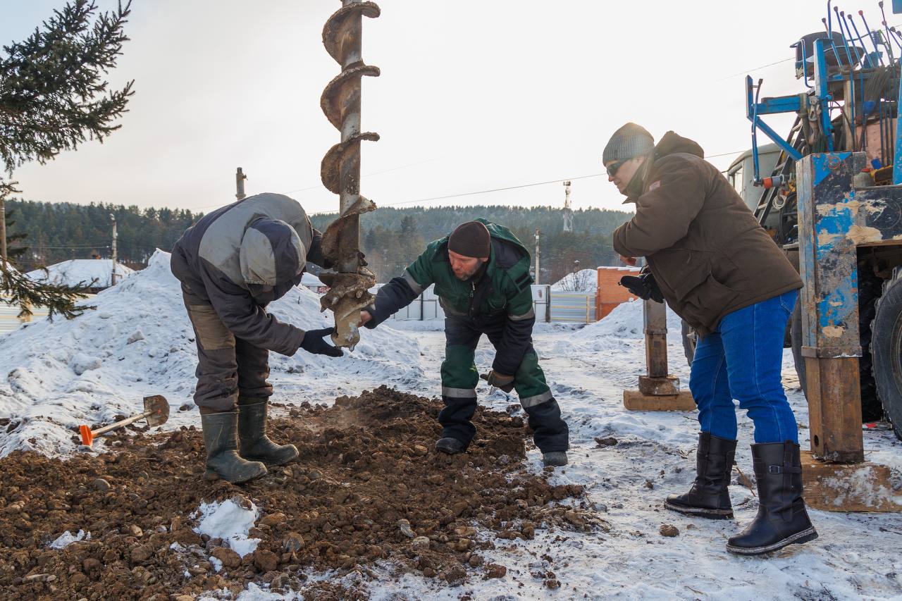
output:
[[[244,482],[298,457],[294,445],[266,436],[269,352],[342,351],[323,339],[333,328],[305,332],[275,319],[266,305],[300,282],[308,261],[325,263],[321,238],[297,200],[257,194],[203,217],[172,248],[170,266],[198,344],[194,402],[207,478]]]

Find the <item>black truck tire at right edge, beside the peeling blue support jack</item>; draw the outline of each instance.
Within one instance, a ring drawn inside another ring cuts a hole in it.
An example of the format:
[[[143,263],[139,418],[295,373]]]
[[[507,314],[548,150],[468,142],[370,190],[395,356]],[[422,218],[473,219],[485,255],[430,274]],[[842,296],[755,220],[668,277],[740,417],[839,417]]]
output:
[[[902,440],[902,270],[898,267],[892,279],[883,284],[870,331],[877,392],[897,438]]]

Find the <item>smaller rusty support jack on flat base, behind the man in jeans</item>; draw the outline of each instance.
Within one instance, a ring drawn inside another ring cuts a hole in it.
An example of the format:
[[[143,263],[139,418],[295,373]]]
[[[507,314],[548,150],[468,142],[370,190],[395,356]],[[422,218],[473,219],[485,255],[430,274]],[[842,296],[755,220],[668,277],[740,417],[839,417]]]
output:
[[[643,301],[646,375],[639,376],[639,390],[623,391],[623,406],[630,411],[694,411],[692,393],[680,391],[679,378],[667,370],[667,307]]]

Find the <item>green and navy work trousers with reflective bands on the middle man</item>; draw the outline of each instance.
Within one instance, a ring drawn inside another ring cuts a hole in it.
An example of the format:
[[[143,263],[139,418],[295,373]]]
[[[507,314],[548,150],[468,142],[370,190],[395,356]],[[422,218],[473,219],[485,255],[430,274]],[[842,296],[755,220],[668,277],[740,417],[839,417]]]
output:
[[[476,326],[465,319],[445,319],[445,361],[442,362],[442,400],[445,409],[438,413],[442,425],[442,437],[458,439],[469,445],[476,428],[473,415],[476,411],[476,371],[474,356],[476,345],[483,334],[489,337],[492,347],[498,349],[502,341],[506,319],[483,326]],[[568,430],[561,419],[557,401],[545,383],[545,374],[538,365],[538,356],[530,344],[517,373],[514,389],[520,396],[520,405],[529,417],[536,446],[543,452],[563,451],[568,448]]]

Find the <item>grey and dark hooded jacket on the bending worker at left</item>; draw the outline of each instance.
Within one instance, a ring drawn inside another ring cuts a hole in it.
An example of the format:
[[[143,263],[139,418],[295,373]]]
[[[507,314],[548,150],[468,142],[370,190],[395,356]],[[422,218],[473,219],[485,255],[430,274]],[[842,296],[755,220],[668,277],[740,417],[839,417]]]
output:
[[[188,304],[212,305],[235,337],[293,355],[304,330],[264,309],[299,284],[307,261],[324,263],[321,238],[297,200],[257,194],[189,227],[172,248],[170,268]]]

